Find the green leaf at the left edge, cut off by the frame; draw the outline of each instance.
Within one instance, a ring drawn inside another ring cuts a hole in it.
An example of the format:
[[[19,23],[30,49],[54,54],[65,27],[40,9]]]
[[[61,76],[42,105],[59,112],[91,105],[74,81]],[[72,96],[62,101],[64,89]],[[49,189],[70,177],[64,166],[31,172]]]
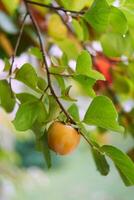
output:
[[[6,112],[12,112],[15,106],[15,98],[6,80],[0,81],[0,105]]]

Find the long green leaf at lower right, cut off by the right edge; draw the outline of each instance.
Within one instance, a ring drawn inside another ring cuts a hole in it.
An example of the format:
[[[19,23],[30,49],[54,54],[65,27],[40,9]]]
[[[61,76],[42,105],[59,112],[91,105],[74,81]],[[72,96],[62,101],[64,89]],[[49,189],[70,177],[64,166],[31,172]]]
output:
[[[115,166],[129,182],[129,185],[134,185],[134,163],[132,160],[116,147],[104,145],[101,149],[113,160]]]

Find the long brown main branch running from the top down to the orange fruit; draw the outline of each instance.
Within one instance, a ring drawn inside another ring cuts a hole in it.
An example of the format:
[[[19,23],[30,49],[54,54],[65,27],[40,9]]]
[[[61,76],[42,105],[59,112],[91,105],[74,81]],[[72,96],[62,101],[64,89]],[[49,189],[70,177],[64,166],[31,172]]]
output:
[[[25,3],[25,6],[26,6],[26,9],[27,9],[27,12],[31,18],[31,21],[32,21],[32,24],[33,24],[33,27],[36,31],[36,34],[38,36],[38,40],[39,40],[39,44],[40,44],[40,48],[41,48],[41,53],[42,53],[42,57],[43,57],[43,61],[44,61],[44,65],[45,65],[45,68],[46,68],[46,73],[47,73],[47,81],[48,81],[48,86],[49,86],[49,89],[50,89],[50,92],[51,94],[53,95],[53,97],[55,98],[56,102],[58,103],[59,107],[61,108],[61,110],[65,113],[67,119],[73,123],[73,124],[76,124],[75,121],[72,119],[72,117],[69,115],[69,113],[66,111],[66,109],[64,108],[64,106],[61,104],[61,102],[59,101],[54,89],[53,89],[53,86],[52,86],[52,83],[51,83],[51,78],[50,78],[50,73],[49,73],[49,67],[48,67],[48,64],[47,64],[47,60],[46,60],[46,51],[44,49],[44,45],[43,45],[43,42],[42,42],[42,39],[41,39],[41,33],[40,33],[40,29],[39,29],[39,26],[29,8],[29,5],[28,5],[28,2],[26,0],[24,0],[24,3]]]

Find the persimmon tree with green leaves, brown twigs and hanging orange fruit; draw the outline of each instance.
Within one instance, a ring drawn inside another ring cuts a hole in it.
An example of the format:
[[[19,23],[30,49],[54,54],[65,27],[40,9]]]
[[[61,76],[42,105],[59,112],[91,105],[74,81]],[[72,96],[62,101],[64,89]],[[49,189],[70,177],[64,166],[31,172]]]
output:
[[[102,175],[109,173],[109,157],[125,185],[134,185],[133,161],[116,147],[97,143],[90,130],[134,135],[133,108],[123,106],[134,97],[133,0],[120,0],[118,6],[113,0],[2,0],[0,9],[1,73],[6,74],[0,104],[7,113],[18,106],[16,130],[33,131],[48,167],[50,149],[67,154],[84,138]],[[52,55],[54,46],[61,56]],[[36,58],[36,68],[30,61],[15,65],[23,52]],[[26,90],[16,93],[14,80]],[[71,93],[76,84],[89,98],[82,119]]]

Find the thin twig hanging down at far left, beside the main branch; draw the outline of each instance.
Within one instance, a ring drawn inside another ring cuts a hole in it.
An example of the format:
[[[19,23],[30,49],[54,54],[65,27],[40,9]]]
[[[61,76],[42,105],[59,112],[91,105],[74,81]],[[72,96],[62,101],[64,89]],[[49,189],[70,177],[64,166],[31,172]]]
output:
[[[10,67],[10,70],[9,70],[9,84],[10,84],[10,86],[11,86],[11,75],[12,75],[13,64],[14,64],[15,56],[17,54],[18,47],[19,47],[19,44],[20,44],[20,41],[21,41],[21,37],[22,37],[22,34],[23,34],[23,29],[24,29],[25,20],[27,18],[27,15],[28,15],[28,13],[25,14],[25,16],[22,20],[19,35],[18,35],[17,42],[16,42],[15,49],[14,49],[14,53],[12,55],[11,67]]]

